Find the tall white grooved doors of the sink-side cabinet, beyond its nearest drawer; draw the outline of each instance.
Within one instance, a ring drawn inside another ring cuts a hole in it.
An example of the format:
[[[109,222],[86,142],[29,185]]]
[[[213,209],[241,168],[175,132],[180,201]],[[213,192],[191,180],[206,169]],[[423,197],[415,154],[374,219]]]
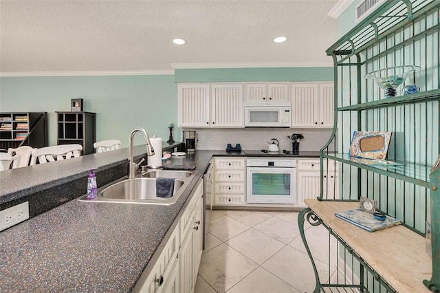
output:
[[[179,292],[194,292],[197,273],[203,245],[203,199],[202,184],[197,187],[196,195],[191,199],[185,210],[186,217],[180,220],[181,246],[177,258],[179,259]],[[188,213],[187,213],[188,212]]]

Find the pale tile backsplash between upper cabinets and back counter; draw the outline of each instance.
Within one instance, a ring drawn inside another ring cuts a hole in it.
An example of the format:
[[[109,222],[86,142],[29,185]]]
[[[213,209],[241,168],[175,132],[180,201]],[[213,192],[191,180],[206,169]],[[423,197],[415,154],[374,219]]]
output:
[[[281,128],[240,128],[240,129],[183,129],[195,130],[197,145],[200,150],[222,150],[226,144],[232,146],[241,144],[241,149],[258,150],[267,149],[267,142],[271,138],[279,141],[280,151],[292,151],[292,142],[287,135],[303,133],[304,139],[300,141],[300,151],[319,151],[329,140],[332,129],[281,129]],[[333,151],[333,149],[330,149]]]

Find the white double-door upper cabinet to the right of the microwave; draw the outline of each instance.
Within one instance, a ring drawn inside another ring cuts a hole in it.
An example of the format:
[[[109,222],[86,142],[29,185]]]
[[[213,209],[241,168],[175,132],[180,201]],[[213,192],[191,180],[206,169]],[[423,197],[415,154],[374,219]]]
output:
[[[292,127],[333,127],[333,83],[292,83]]]

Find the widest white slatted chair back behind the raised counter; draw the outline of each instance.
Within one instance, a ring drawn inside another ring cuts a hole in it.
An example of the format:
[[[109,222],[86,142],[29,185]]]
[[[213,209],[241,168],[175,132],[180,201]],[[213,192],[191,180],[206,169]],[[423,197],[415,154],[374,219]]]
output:
[[[32,151],[30,165],[36,164],[37,160],[40,164],[47,162],[55,162],[59,160],[76,158],[81,155],[83,146],[81,144],[60,144],[58,146],[46,146]]]

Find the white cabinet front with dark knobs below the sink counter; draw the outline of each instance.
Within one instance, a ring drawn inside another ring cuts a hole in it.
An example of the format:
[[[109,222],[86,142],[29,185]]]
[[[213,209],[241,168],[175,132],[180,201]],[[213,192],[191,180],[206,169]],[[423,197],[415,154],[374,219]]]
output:
[[[140,292],[194,292],[203,249],[202,195],[201,180]]]

